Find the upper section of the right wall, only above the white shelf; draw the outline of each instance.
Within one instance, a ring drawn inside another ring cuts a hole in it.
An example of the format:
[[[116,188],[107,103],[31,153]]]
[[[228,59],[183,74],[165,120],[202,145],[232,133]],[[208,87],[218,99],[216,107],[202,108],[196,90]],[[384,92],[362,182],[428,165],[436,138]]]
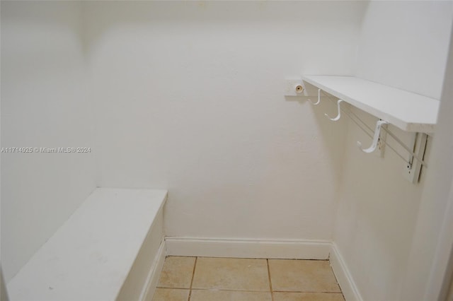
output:
[[[370,1],[357,76],[440,99],[452,1]]]

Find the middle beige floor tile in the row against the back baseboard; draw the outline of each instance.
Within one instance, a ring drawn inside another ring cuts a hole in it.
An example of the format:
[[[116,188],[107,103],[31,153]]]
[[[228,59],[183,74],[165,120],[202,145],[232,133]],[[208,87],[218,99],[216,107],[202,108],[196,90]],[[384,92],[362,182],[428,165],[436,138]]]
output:
[[[270,291],[267,261],[199,257],[192,288]]]

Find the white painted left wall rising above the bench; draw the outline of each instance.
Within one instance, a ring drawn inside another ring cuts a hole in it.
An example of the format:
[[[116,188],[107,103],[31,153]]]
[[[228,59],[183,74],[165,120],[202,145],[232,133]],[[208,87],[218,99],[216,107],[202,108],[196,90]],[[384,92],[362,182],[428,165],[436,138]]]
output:
[[[76,2],[1,2],[1,147],[92,147]],[[94,189],[93,153],[1,153],[8,282]]]

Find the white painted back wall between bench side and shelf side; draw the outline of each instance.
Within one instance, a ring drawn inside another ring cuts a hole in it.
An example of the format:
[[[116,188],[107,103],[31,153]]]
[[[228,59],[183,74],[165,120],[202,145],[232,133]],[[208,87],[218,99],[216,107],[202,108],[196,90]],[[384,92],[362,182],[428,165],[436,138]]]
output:
[[[166,235],[331,240],[340,122],[284,78],[352,74],[366,4],[86,4],[101,187],[168,189]]]

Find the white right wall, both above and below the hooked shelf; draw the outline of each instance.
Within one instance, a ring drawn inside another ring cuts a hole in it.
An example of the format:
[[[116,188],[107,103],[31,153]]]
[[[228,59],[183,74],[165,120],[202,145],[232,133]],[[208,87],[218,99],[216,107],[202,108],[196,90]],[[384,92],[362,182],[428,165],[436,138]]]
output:
[[[447,59],[452,2],[376,1],[367,6],[357,74],[372,81],[440,98]],[[360,114],[370,126],[377,121]],[[411,136],[389,126],[406,143]],[[389,136],[387,136],[389,137]],[[419,184],[403,178],[404,162],[389,148],[385,158],[362,153],[370,139],[348,125],[334,241],[363,300],[401,300],[418,220],[425,173]],[[389,138],[392,146],[398,147]],[[434,163],[428,153],[425,158]],[[402,148],[398,148],[405,154]],[[415,300],[415,299],[412,299]],[[418,300],[418,299],[417,299]]]

